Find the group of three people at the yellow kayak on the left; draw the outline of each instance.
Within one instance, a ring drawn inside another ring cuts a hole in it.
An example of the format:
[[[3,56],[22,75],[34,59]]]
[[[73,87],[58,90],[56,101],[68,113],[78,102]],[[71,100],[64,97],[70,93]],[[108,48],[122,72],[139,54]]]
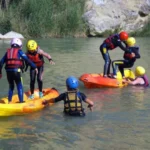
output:
[[[10,42],[10,48],[0,60],[0,78],[2,78],[2,68],[5,63],[5,70],[7,80],[9,83],[8,101],[11,103],[15,84],[18,90],[18,97],[20,103],[23,103],[23,83],[21,71],[27,71],[30,66],[30,92],[29,99],[34,99],[34,85],[37,76],[39,97],[42,98],[43,92],[43,71],[44,71],[44,57],[46,57],[50,64],[54,65],[52,57],[44,52],[34,40],[27,41],[27,52],[22,51],[22,41],[14,38]],[[57,98],[53,99],[54,102],[64,100],[64,112],[72,116],[85,116],[82,106],[82,101],[88,103],[88,108],[92,110],[94,103],[86,97],[85,94],[78,91],[78,79],[70,76],[66,80],[67,92],[60,94]]]

